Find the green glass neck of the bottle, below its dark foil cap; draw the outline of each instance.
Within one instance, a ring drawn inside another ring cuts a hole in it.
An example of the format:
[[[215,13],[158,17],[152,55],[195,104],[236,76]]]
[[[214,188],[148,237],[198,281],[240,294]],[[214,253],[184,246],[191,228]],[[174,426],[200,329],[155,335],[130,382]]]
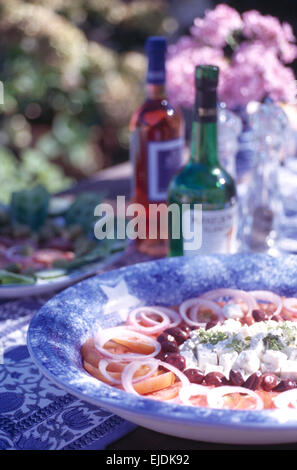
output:
[[[216,93],[197,93],[192,124],[191,157],[193,163],[209,167],[219,166],[217,150]]]

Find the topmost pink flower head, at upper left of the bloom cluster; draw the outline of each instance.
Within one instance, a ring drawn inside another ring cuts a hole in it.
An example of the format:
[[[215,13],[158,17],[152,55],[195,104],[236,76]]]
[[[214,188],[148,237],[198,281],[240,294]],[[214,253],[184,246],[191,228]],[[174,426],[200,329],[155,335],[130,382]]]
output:
[[[191,33],[205,45],[224,47],[228,36],[242,26],[239,13],[222,3],[213,10],[206,10],[204,18],[196,18]]]

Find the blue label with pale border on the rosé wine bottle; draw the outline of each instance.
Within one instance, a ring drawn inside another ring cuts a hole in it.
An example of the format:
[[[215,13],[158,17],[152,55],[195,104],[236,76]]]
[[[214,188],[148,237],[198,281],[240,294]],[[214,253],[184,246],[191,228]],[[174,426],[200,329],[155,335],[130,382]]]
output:
[[[147,187],[149,201],[167,201],[173,175],[182,167],[184,140],[148,142]]]

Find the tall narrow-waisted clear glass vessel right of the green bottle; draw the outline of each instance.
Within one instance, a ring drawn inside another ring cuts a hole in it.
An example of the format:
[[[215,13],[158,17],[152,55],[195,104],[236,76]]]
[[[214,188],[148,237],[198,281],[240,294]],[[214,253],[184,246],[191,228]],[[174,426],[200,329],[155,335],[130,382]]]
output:
[[[289,123],[273,102],[258,104],[248,117],[256,137],[257,157],[242,220],[245,248],[277,255],[284,214],[279,171],[286,158]]]

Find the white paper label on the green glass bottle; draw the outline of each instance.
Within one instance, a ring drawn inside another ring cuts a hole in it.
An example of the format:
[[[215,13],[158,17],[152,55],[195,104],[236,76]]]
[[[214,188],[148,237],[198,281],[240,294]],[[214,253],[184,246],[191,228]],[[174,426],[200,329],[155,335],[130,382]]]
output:
[[[184,255],[234,253],[237,248],[237,225],[237,204],[228,209],[202,210],[200,215],[199,211],[193,209],[183,211]],[[199,234],[197,234],[197,230],[200,231]],[[200,240],[200,243],[197,243],[197,240]]]

